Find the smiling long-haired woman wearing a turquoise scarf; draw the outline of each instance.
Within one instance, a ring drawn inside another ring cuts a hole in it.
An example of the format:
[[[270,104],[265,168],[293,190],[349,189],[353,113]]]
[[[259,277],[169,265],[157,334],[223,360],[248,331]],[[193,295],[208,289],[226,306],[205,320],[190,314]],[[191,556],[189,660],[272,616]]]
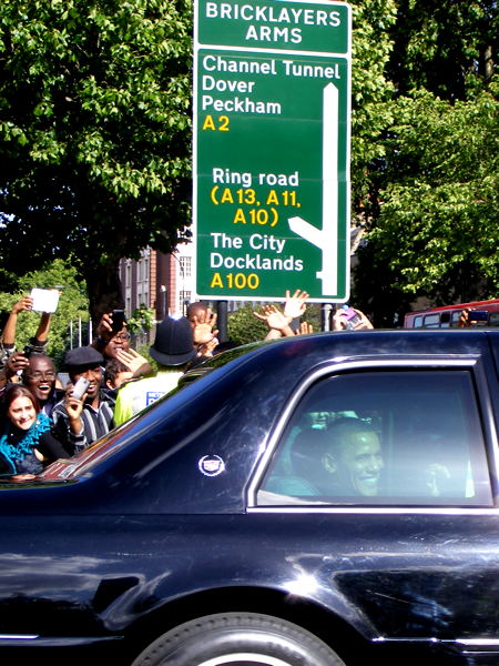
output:
[[[58,457],[69,457],[29,389],[21,384],[10,386],[2,406],[0,476],[37,475]]]

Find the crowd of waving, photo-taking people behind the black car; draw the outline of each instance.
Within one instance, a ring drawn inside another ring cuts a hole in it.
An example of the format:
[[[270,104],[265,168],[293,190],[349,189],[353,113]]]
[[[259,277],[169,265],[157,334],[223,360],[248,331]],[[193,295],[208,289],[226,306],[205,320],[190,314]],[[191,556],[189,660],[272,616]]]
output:
[[[299,323],[307,299],[304,291],[287,291],[283,307],[266,304],[255,311],[268,327],[265,340],[312,333],[308,323]],[[205,303],[191,303],[186,316],[167,316],[157,324],[150,347],[157,365],[153,371],[130,346],[126,321],[113,321],[114,313],[106,312],[92,344],[65,353],[69,381],[62,385],[47,355],[50,313],[41,314],[34,336],[17,349],[18,317],[31,309],[31,296],[17,302],[0,337],[0,477],[12,481],[29,480],[51,462],[86,448],[172,391],[186,370],[224,346],[218,344],[216,314]],[[373,327],[360,311],[356,313],[355,329]],[[343,311],[335,314],[333,327],[347,327]]]

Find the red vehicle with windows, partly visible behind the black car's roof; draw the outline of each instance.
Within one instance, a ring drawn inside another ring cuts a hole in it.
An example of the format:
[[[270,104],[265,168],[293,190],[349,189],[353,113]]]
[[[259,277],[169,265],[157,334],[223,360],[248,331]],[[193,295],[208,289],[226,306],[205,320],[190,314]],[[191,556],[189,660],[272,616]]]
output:
[[[408,312],[404,317],[404,329],[456,329],[465,309],[488,313],[473,325],[499,326],[499,299],[493,299]]]

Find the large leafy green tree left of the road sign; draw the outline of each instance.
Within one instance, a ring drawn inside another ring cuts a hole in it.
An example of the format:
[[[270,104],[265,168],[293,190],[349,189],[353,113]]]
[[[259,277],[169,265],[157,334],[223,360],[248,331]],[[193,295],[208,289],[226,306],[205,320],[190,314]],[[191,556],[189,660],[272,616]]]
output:
[[[2,269],[71,258],[94,320],[122,304],[120,258],[185,234],[191,13],[190,0],[0,4]]]

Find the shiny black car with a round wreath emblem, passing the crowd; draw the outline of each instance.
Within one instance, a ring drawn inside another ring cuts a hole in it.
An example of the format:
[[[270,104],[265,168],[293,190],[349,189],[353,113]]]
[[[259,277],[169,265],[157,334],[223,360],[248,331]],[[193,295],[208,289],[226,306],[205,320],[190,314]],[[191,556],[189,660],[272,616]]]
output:
[[[499,331],[231,350],[0,485],[17,664],[499,663]]]

